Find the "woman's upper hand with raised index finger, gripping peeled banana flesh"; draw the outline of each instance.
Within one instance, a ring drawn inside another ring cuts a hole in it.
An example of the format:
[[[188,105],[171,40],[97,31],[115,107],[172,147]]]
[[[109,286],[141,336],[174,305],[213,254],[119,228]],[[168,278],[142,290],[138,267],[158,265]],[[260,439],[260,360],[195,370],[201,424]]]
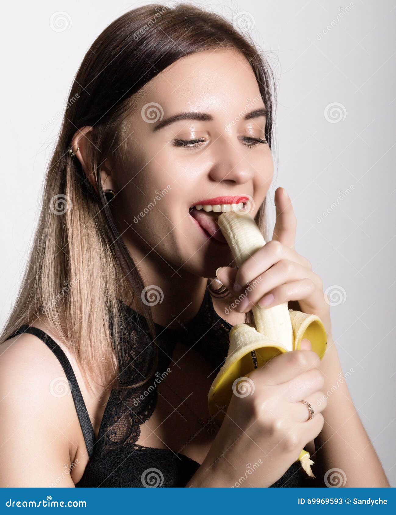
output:
[[[330,338],[330,305],[321,278],[294,248],[297,219],[284,188],[279,187],[275,192],[275,207],[272,240],[238,270],[228,266],[218,269],[217,278],[239,299],[237,311],[246,313],[253,304],[272,307],[298,301],[302,312],[321,319]],[[254,288],[249,288],[253,281]]]

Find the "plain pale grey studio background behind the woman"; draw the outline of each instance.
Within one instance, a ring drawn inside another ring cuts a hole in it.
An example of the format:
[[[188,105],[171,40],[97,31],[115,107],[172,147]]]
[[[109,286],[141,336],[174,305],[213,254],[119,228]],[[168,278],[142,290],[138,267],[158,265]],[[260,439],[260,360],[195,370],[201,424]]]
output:
[[[102,29],[147,3],[3,6],[2,324],[20,284],[72,78]],[[296,249],[328,289],[343,371],[352,369],[356,408],[395,486],[395,3],[195,4],[235,16],[270,54],[279,87],[270,201],[277,186],[287,188],[298,219]],[[51,16],[64,10],[64,30],[54,30]]]

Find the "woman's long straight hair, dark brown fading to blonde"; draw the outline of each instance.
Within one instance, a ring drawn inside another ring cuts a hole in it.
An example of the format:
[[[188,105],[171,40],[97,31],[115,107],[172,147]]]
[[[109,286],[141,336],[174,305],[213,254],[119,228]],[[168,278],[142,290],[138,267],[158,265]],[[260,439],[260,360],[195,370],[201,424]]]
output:
[[[45,314],[88,384],[95,380],[115,386],[121,352],[119,298],[128,304],[134,299],[155,339],[150,307],[141,299],[145,284],[112,218],[100,166],[109,155],[114,163],[122,162],[123,122],[137,106],[144,84],[184,56],[222,48],[238,50],[250,63],[268,111],[265,135],[271,146],[272,72],[251,39],[220,15],[186,4],[147,5],[120,16],[94,41],[68,96],[29,263],[0,341]],[[68,152],[76,130],[84,126],[93,127],[90,164],[97,191]],[[265,202],[256,222],[264,232]]]

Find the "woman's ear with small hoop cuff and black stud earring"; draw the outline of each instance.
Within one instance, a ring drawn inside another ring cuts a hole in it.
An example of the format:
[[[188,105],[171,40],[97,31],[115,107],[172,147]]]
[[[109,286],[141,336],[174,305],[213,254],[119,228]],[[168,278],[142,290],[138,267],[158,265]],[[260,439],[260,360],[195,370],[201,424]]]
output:
[[[96,193],[97,184],[96,177],[91,168],[91,139],[90,135],[92,127],[82,127],[78,129],[72,139],[72,148],[76,152],[75,157],[80,161],[83,172],[91,185],[94,187]],[[77,150],[78,148],[78,150]],[[100,180],[102,183],[103,191],[112,190],[115,191],[115,185],[113,183],[112,170],[109,161],[106,159],[105,162],[100,165]]]

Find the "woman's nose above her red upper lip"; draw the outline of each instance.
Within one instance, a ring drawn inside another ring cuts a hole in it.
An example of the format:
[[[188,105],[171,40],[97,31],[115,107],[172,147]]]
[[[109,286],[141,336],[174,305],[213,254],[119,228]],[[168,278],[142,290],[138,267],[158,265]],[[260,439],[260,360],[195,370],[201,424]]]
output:
[[[254,168],[246,158],[246,147],[239,141],[230,143],[223,139],[216,149],[210,177],[217,182],[230,181],[245,184],[254,176]]]

